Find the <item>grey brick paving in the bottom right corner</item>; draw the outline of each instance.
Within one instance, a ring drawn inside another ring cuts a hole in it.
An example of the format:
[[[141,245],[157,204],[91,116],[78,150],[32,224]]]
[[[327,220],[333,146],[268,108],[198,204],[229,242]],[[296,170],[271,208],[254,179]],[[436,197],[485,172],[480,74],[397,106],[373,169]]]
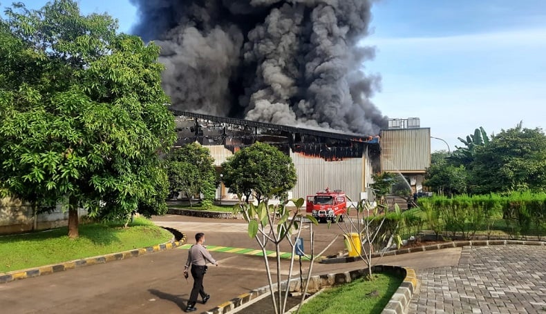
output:
[[[546,314],[544,246],[465,246],[458,266],[417,271],[408,313]]]

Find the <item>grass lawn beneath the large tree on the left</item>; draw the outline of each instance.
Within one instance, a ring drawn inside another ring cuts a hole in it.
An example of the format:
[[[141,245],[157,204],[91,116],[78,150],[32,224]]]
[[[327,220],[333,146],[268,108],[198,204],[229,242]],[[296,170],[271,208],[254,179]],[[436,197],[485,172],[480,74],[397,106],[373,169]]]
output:
[[[169,241],[172,234],[148,219],[123,223],[80,224],[79,238],[69,239],[68,228],[0,236],[0,273],[67,262]]]

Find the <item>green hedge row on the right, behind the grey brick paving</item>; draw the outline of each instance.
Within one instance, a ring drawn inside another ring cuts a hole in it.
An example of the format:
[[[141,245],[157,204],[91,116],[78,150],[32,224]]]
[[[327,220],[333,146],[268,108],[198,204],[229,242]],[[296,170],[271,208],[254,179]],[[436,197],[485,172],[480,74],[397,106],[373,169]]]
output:
[[[385,214],[379,246],[390,237],[417,236],[423,229],[433,230],[438,238],[449,234],[473,239],[478,232],[491,236],[495,231],[511,238],[534,235],[542,239],[546,235],[546,193],[423,197],[417,204],[419,208]],[[371,219],[375,229],[383,216]]]

